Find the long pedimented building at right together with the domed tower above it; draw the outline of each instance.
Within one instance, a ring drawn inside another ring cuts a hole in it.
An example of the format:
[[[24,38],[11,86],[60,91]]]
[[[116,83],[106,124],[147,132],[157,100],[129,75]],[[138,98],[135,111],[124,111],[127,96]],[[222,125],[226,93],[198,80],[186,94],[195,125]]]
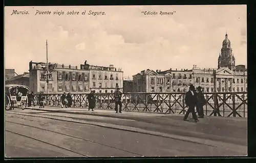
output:
[[[204,92],[214,92],[214,70],[216,70],[217,92],[247,91],[247,69],[245,65],[235,66],[230,40],[225,36],[222,42],[218,68],[197,68],[172,70],[143,70],[133,76],[133,92],[186,92],[188,86],[201,86]]]

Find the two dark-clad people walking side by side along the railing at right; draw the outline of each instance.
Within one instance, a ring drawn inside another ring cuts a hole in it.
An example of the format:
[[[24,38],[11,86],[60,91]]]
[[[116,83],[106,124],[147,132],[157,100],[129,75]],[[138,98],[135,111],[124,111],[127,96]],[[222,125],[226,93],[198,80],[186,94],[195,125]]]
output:
[[[189,113],[192,114],[195,122],[199,121],[198,118],[204,118],[203,106],[205,105],[206,100],[200,86],[197,88],[197,90],[193,85],[189,86],[189,91],[185,95],[185,103],[186,107],[188,107],[188,110],[183,118],[184,121],[188,121],[187,117]],[[198,117],[195,112],[195,107],[198,113]]]

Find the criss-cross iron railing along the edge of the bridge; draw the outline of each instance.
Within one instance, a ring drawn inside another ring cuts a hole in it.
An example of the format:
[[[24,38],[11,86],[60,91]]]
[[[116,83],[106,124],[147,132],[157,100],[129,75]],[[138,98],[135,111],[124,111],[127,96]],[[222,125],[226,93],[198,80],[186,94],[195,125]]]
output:
[[[61,94],[45,94],[48,106],[60,107]],[[37,98],[38,95],[36,95]],[[72,107],[88,108],[88,94],[71,94]],[[114,110],[114,93],[95,93],[96,108]],[[247,117],[247,92],[204,93],[206,116]],[[38,101],[38,100],[37,100]],[[162,114],[185,114],[185,93],[123,93],[122,110]]]

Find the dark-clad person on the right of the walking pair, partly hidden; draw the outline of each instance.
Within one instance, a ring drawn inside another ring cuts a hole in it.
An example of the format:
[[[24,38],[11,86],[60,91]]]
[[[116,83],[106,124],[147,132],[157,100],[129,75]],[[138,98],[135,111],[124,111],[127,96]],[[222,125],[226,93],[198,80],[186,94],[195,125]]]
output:
[[[198,99],[198,102],[197,102],[197,113],[198,113],[198,118],[204,118],[204,109],[203,109],[203,106],[205,105],[206,103],[206,100],[204,98],[204,94],[201,90],[202,88],[199,86],[197,88],[197,99]]]

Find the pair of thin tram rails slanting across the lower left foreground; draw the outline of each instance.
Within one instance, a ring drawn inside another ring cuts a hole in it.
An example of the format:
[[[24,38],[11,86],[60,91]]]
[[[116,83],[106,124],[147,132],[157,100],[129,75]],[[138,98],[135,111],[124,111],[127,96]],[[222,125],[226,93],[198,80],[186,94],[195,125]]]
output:
[[[16,125],[27,126],[27,127],[31,127],[31,128],[36,128],[36,129],[40,129],[40,130],[44,130],[44,131],[48,131],[48,132],[52,132],[52,133],[57,133],[57,134],[65,135],[65,136],[70,137],[70,138],[72,138],[72,139],[82,140],[82,141],[94,143],[94,144],[97,144],[97,145],[100,145],[100,146],[104,146],[104,147],[109,147],[109,148],[112,148],[112,149],[120,150],[120,151],[123,151],[123,152],[131,153],[131,154],[136,154],[136,155],[138,155],[138,156],[143,156],[142,154],[139,154],[139,153],[135,153],[135,152],[132,152],[132,151],[123,150],[123,149],[116,148],[116,147],[109,146],[109,145],[104,145],[104,144],[98,143],[98,142],[96,142],[96,141],[91,141],[91,140],[87,140],[87,139],[75,137],[75,136],[70,135],[70,134],[65,134],[65,133],[61,133],[61,132],[57,132],[57,131],[52,131],[52,130],[49,130],[49,129],[40,128],[40,127],[36,127],[36,126],[31,126],[31,125],[27,125],[27,124],[23,124],[23,123],[16,123],[16,122],[11,122],[11,121],[5,121],[5,122],[6,122],[6,123],[16,124]],[[59,147],[59,148],[62,148],[62,149],[65,149],[65,150],[74,152],[74,153],[76,153],[76,154],[80,154],[80,155],[82,155],[82,156],[91,157],[91,156],[87,156],[87,155],[84,155],[84,154],[81,154],[81,153],[72,151],[72,150],[67,149],[67,148],[63,148],[63,147],[60,147],[60,146],[57,146],[57,145],[54,145],[54,144],[51,144],[51,143],[48,143],[48,142],[45,142],[45,141],[41,141],[41,140],[38,140],[38,139],[35,139],[35,138],[32,138],[32,137],[29,137],[28,135],[24,135],[24,134],[21,134],[21,133],[17,133],[17,132],[14,132],[14,131],[10,131],[10,130],[6,130],[6,131],[11,132],[11,133],[14,133],[14,134],[21,135],[21,136],[23,136],[23,137],[27,137],[27,138],[30,138],[30,139],[34,139],[34,140],[36,140],[36,141],[40,141],[40,142],[43,142],[43,143],[46,143],[46,144],[49,144],[49,145],[52,145],[52,146],[55,146],[55,147]]]

